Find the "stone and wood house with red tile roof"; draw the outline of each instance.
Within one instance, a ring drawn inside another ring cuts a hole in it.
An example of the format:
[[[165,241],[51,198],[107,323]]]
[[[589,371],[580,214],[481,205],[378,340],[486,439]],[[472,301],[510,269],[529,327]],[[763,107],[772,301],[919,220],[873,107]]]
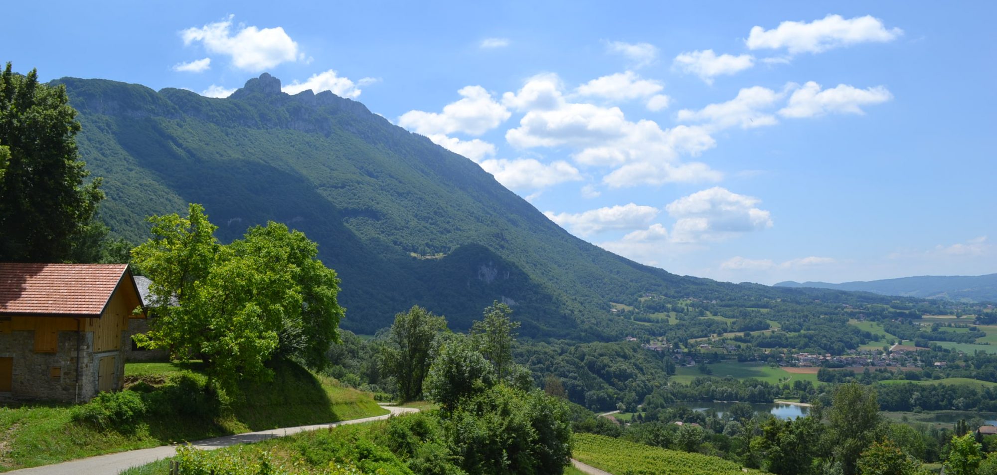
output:
[[[122,389],[143,308],[127,264],[0,262],[0,400]]]

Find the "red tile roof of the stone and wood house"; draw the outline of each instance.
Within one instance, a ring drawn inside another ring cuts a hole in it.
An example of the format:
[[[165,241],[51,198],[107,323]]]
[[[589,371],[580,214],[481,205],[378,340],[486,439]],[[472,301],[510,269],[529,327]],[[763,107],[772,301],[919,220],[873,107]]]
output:
[[[0,262],[0,315],[100,316],[127,271],[127,264]]]

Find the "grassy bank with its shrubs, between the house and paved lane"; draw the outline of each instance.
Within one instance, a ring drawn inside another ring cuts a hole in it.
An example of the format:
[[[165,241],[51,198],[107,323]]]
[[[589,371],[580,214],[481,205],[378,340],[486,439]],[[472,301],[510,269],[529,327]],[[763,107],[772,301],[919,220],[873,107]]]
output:
[[[0,406],[0,472],[254,430],[387,413],[370,394],[293,363],[219,397],[194,365],[130,363],[128,388],[88,404]]]

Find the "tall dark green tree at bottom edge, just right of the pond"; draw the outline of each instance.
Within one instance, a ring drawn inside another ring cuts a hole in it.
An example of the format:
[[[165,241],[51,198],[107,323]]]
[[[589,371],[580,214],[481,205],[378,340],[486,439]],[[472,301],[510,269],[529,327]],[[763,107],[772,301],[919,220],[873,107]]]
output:
[[[882,431],[875,391],[854,382],[842,384],[834,391],[827,413],[831,457],[844,475],[853,475],[858,457]]]

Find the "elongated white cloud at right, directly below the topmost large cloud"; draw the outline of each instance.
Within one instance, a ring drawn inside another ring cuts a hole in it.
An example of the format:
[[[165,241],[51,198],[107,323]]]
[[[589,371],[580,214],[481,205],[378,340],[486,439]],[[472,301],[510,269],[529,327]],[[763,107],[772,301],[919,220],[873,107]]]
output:
[[[779,115],[805,118],[829,113],[864,114],[859,106],[881,104],[892,98],[893,95],[882,86],[857,89],[839,84],[822,91],[820,84],[810,81],[793,92],[789,104],[779,111]]]

